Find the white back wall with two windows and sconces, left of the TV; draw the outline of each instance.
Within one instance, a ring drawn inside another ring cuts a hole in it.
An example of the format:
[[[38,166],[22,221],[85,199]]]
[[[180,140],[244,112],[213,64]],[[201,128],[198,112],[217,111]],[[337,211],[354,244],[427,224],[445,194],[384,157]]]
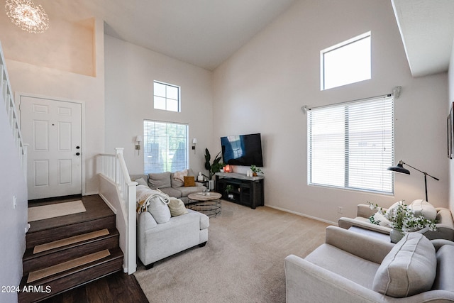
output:
[[[197,138],[196,154],[189,150],[189,166],[204,173],[204,150],[211,153],[213,106],[211,72],[105,36],[106,60],[106,153],[125,148],[123,155],[131,174],[143,173],[143,144],[134,149],[135,136],[143,135],[143,120],[189,124],[189,145]],[[182,111],[153,109],[153,81],[181,87]],[[216,152],[217,153],[217,152]]]

